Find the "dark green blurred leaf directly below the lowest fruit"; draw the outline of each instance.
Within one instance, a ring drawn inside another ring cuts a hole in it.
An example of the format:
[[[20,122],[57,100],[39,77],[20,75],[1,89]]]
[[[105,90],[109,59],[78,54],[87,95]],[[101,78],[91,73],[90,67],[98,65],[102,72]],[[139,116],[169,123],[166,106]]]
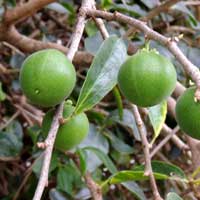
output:
[[[57,189],[72,195],[73,188],[80,187],[81,185],[80,173],[72,163],[59,168],[57,173]]]

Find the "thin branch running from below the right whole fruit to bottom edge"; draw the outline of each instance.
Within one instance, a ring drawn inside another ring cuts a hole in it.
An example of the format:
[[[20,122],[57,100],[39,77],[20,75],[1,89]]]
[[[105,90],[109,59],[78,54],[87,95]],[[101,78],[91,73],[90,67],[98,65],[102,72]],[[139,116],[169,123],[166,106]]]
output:
[[[161,196],[158,192],[155,177],[154,177],[153,171],[152,171],[151,158],[150,158],[150,153],[149,153],[149,143],[148,143],[148,140],[146,138],[147,137],[147,131],[146,131],[145,125],[144,125],[144,123],[141,119],[141,116],[140,116],[140,113],[138,111],[137,106],[132,105],[132,109],[133,109],[133,114],[135,116],[136,124],[138,126],[138,130],[139,130],[140,137],[141,137],[141,140],[142,140],[142,145],[143,145],[144,158],[145,158],[144,175],[149,176],[151,188],[153,190],[154,199],[155,200],[162,200],[162,198],[161,198]]]

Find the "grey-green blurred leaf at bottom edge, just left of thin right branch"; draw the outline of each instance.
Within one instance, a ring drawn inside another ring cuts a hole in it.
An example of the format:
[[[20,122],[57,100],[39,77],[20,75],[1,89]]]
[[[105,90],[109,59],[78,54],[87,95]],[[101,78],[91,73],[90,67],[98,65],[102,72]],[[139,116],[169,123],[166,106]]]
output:
[[[121,183],[126,189],[131,191],[138,199],[140,200],[146,200],[146,197],[144,195],[144,192],[142,189],[138,186],[137,183],[134,181],[127,181],[124,183]]]

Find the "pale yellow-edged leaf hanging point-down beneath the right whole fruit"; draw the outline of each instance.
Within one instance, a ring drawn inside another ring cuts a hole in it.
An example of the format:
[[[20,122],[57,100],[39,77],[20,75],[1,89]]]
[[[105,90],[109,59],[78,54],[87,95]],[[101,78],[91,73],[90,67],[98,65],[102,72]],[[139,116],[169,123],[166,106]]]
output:
[[[154,137],[151,141],[151,144],[153,144],[156,138],[159,136],[162,126],[165,123],[167,115],[167,102],[163,101],[158,105],[150,107],[148,110],[149,118],[154,130]]]

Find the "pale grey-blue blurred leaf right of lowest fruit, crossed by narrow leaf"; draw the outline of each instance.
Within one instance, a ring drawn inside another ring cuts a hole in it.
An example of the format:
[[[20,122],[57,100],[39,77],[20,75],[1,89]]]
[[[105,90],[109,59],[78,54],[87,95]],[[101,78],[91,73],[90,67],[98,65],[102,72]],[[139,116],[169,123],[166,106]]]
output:
[[[102,135],[96,126],[90,124],[90,129],[87,138],[78,146],[79,148],[84,148],[92,146],[103,151],[105,154],[109,151],[109,144],[104,135]],[[102,161],[97,157],[97,155],[91,151],[86,150],[86,163],[87,170],[93,172]]]

